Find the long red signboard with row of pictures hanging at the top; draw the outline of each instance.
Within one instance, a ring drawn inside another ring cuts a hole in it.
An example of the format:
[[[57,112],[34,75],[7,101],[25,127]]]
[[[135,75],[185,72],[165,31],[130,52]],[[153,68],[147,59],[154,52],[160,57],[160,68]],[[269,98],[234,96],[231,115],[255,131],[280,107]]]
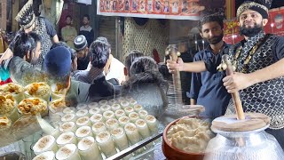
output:
[[[199,20],[200,0],[98,0],[99,15],[153,19]]]

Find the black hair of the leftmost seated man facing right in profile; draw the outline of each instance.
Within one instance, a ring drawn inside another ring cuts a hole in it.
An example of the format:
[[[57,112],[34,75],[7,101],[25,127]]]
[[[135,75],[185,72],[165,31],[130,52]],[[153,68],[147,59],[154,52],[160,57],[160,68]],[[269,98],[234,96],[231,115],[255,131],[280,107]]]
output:
[[[24,58],[28,52],[36,49],[38,42],[41,42],[41,36],[37,35],[36,32],[25,33],[20,31],[20,34],[15,37],[13,55]]]

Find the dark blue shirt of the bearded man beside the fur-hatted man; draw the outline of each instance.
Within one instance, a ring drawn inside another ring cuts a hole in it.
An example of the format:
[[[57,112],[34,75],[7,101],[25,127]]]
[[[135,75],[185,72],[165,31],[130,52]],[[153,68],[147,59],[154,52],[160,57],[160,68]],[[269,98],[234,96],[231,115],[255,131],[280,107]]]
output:
[[[214,54],[212,49],[207,49],[197,52],[193,61],[221,60],[224,53],[228,53],[229,45],[225,44],[224,48],[218,53]],[[202,105],[205,111],[201,116],[208,116],[209,118],[216,118],[223,116],[225,109],[228,106],[231,94],[227,92],[223,85],[222,79],[225,77],[225,72],[212,73],[209,71],[201,73],[193,73],[192,85],[188,97],[196,100],[196,104]]]

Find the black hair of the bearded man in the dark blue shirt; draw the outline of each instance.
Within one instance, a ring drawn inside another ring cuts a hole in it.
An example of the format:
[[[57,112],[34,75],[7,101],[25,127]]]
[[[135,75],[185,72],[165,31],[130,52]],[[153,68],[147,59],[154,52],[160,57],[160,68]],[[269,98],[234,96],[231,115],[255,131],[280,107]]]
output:
[[[200,32],[201,32],[203,24],[213,22],[213,21],[216,21],[222,29],[224,28],[224,22],[223,22],[224,16],[223,15],[219,15],[219,14],[212,13],[212,12],[203,12],[203,14],[204,15],[202,16],[200,24],[199,24]]]

